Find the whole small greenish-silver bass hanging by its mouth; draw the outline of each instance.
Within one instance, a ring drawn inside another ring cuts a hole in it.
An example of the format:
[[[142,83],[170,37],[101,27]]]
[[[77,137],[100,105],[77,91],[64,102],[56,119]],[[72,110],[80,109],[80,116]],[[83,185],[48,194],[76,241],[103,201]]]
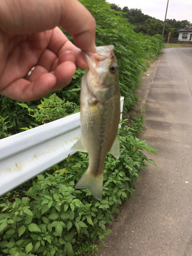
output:
[[[89,154],[88,169],[75,188],[88,188],[101,200],[106,155],[119,158],[120,87],[114,46],[96,49],[97,53],[83,52],[89,69],[81,80],[81,138],[72,149]]]

